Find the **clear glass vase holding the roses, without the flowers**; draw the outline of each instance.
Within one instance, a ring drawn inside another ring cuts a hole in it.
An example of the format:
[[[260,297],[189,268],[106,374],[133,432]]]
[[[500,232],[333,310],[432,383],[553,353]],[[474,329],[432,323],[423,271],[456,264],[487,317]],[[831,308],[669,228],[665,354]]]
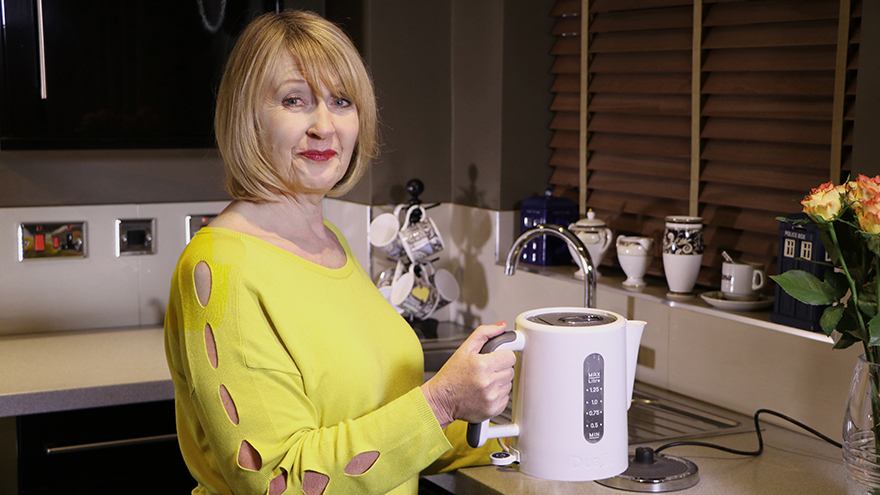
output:
[[[849,495],[880,495],[880,365],[859,356],[843,417]]]

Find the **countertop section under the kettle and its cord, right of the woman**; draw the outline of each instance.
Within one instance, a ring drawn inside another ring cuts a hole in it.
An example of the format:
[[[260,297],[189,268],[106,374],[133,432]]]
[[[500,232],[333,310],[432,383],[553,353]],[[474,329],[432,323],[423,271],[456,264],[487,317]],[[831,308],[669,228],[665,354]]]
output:
[[[782,428],[760,417],[764,452],[758,457],[728,454],[714,449],[681,446],[663,454],[687,459],[697,465],[700,480],[677,493],[682,495],[845,494],[843,456],[839,448],[809,434]],[[701,438],[738,450],[757,449],[754,431]],[[648,444],[658,447],[662,442]],[[632,447],[630,451],[632,451]],[[459,494],[473,495],[611,495],[631,493],[596,482],[547,481],[521,474],[516,467],[483,466],[460,469],[435,479]]]

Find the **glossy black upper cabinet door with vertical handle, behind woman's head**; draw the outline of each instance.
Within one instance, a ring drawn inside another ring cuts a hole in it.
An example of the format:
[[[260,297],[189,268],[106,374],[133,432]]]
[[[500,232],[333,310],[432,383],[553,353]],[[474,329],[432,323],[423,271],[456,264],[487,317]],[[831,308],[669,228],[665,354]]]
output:
[[[213,147],[223,64],[276,2],[6,0],[0,149]]]

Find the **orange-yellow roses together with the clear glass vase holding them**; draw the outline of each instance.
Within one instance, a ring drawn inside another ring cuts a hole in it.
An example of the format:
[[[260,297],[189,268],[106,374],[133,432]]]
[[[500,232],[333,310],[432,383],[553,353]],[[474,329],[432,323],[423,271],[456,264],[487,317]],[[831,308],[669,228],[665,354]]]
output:
[[[864,484],[867,491],[859,488],[858,493],[880,495],[880,366],[875,366],[880,364],[880,176],[859,175],[838,186],[822,184],[801,204],[807,217],[794,222],[816,225],[830,258],[824,280],[803,270],[771,278],[795,299],[827,306],[819,324],[828,336],[838,332],[835,349],[861,342],[870,364],[856,365],[847,399],[844,464],[848,487]]]

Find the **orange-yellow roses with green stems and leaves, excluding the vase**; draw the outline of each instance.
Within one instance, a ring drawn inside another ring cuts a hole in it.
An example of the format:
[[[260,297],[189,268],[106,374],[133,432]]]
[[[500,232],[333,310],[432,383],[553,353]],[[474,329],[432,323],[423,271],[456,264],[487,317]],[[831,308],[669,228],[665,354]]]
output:
[[[824,280],[803,270],[789,270],[770,278],[799,301],[828,306],[819,324],[826,335],[834,330],[840,334],[835,349],[861,342],[865,358],[880,364],[880,176],[859,175],[838,186],[822,184],[801,204],[807,218],[793,222],[819,228],[831,260]]]

